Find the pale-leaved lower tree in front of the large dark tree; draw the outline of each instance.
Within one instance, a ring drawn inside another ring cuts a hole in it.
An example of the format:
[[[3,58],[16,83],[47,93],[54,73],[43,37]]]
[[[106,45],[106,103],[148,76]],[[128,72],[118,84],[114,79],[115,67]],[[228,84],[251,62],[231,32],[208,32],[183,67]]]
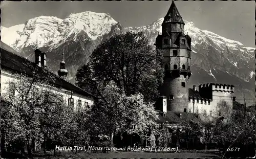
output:
[[[109,82],[102,87],[103,99],[89,111],[88,118],[91,134],[98,138],[100,134],[110,137],[113,145],[113,135],[118,132],[127,134],[139,134],[146,138],[148,131],[154,130],[155,111],[153,104],[145,104],[141,94],[127,97],[120,94],[115,82]],[[131,127],[135,125],[135,127]]]

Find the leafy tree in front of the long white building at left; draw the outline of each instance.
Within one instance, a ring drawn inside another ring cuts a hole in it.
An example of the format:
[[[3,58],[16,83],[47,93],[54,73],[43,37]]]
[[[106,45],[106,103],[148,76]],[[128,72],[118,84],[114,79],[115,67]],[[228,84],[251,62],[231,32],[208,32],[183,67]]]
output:
[[[5,123],[2,130],[15,129],[7,133],[8,137],[14,137],[9,141],[19,141],[20,147],[26,145],[28,155],[32,157],[32,143],[42,142],[46,132],[50,136],[58,135],[61,113],[57,110],[61,110],[60,106],[65,103],[58,93],[51,90],[54,76],[48,70],[36,67],[32,76],[21,74],[13,77],[15,79],[9,82],[7,91],[3,93],[4,108],[10,112],[1,114]]]

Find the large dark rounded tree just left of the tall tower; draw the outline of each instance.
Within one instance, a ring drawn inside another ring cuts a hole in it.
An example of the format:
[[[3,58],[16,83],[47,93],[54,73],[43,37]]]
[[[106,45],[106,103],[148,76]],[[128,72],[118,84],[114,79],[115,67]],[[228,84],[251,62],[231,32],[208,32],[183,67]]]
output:
[[[163,82],[162,52],[146,36],[126,32],[106,39],[93,51],[89,62],[76,74],[76,84],[102,97],[102,83],[114,81],[126,96],[141,93],[145,102],[156,99]]]

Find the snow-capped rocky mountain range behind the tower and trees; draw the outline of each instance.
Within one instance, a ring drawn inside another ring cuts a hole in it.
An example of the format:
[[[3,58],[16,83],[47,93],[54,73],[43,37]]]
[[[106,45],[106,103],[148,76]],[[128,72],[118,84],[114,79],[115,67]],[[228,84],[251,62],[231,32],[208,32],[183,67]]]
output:
[[[69,71],[68,80],[75,82],[77,70],[85,64],[95,47],[116,33],[143,32],[150,44],[161,34],[163,18],[143,27],[123,27],[106,13],[82,12],[65,19],[39,16],[9,28],[1,26],[1,47],[34,61],[34,50],[47,53],[47,65],[57,73],[62,53]],[[185,33],[192,41],[189,86],[203,83],[233,84],[237,99],[245,97],[255,103],[255,48],[201,30],[185,22]]]

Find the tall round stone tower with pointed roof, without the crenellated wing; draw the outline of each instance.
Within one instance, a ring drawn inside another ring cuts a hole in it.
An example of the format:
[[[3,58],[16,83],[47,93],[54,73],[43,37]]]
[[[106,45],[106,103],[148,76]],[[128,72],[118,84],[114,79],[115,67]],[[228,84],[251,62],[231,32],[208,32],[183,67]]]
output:
[[[191,38],[184,33],[184,21],[172,2],[162,23],[162,35],[156,47],[162,49],[164,83],[160,94],[167,97],[167,110],[186,111],[188,108],[188,79],[191,75]]]

